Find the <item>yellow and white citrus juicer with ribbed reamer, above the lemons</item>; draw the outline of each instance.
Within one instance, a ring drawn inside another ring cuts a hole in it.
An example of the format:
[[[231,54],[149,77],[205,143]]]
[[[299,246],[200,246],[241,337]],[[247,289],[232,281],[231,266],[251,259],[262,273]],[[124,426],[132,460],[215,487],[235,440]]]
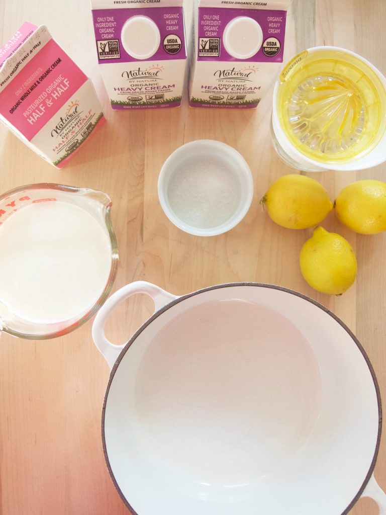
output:
[[[343,48],[304,50],[274,88],[272,139],[306,171],[359,170],[386,160],[386,78]]]

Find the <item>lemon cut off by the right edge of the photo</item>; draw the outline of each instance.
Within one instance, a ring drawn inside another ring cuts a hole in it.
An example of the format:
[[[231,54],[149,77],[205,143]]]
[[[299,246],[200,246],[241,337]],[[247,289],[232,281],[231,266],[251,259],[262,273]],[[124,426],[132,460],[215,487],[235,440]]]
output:
[[[335,200],[338,219],[361,234],[386,230],[386,183],[371,179],[344,187]]]

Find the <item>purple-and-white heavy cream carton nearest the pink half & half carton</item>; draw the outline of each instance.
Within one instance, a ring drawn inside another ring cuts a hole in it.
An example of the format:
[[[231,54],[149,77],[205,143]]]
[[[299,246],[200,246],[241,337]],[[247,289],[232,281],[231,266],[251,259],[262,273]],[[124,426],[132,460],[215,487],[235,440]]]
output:
[[[91,0],[91,7],[112,108],[179,106],[186,63],[182,0]]]

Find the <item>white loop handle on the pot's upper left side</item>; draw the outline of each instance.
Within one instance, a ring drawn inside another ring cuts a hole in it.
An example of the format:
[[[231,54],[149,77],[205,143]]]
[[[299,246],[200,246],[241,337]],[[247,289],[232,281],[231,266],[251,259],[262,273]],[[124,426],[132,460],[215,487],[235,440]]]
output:
[[[168,302],[177,299],[176,295],[172,295],[162,288],[155,286],[155,284],[151,284],[146,281],[135,281],[127,284],[115,291],[115,293],[107,299],[95,316],[92,336],[97,349],[103,354],[110,369],[113,368],[120,351],[126,346],[126,344],[112,344],[104,335],[104,326],[106,325],[110,314],[114,311],[115,306],[136,294],[146,294],[153,299],[154,313]]]

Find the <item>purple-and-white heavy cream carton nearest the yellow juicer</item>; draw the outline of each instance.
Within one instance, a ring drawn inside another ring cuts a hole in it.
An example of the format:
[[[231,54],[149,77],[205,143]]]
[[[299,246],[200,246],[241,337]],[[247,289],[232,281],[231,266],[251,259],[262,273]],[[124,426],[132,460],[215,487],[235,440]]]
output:
[[[282,66],[290,2],[198,0],[190,106],[257,106]]]

